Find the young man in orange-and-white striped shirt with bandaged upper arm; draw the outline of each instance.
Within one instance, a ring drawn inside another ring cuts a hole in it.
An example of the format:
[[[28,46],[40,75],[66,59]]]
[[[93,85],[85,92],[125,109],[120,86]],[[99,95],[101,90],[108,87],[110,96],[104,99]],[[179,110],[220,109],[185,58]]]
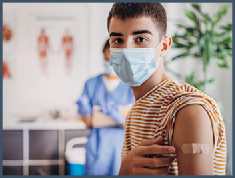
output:
[[[166,75],[163,57],[172,39],[165,36],[163,6],[115,3],[107,27],[110,64],[136,100],[126,119],[119,175],[224,175],[225,128],[217,104]]]

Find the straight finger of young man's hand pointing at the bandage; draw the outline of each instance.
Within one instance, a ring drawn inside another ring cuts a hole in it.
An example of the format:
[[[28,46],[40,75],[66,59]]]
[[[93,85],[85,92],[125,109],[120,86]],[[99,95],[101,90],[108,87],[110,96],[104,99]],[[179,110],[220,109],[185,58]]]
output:
[[[148,155],[148,154],[171,154],[175,153],[175,148],[172,146],[150,145],[139,146],[134,150],[135,155]]]

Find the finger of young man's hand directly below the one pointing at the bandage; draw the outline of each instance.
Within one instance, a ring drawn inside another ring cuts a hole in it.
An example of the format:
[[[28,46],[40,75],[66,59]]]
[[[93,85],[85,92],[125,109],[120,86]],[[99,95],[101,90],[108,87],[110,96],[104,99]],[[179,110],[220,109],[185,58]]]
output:
[[[173,159],[171,157],[162,157],[162,158],[144,158],[144,157],[136,157],[133,159],[134,167],[152,167],[159,168],[170,166]]]

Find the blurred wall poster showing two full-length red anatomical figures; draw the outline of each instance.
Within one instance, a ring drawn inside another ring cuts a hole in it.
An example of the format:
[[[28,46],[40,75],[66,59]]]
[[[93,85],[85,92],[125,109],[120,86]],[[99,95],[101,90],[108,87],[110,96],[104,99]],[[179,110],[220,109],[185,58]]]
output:
[[[31,71],[38,77],[75,76],[86,57],[82,14],[31,13]],[[88,40],[87,40],[88,41]]]

